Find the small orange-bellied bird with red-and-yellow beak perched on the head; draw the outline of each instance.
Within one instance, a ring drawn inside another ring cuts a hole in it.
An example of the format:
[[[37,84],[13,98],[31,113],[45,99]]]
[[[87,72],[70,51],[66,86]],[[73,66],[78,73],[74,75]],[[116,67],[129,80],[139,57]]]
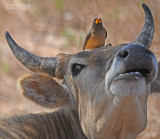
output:
[[[104,46],[106,38],[107,31],[103,27],[101,18],[94,18],[92,27],[84,39],[83,50],[92,50]]]

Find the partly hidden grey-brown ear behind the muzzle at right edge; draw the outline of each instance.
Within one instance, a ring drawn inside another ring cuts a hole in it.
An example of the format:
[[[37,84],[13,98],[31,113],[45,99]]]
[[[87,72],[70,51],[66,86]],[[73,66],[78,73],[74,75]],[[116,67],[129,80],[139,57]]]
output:
[[[151,93],[160,93],[160,62],[158,63],[157,78],[153,83],[151,83]]]

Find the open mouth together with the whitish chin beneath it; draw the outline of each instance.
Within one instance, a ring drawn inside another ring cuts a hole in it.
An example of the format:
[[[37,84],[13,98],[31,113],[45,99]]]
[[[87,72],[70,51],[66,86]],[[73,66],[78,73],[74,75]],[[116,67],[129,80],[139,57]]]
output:
[[[113,79],[110,90],[116,96],[140,96],[145,92],[150,73],[147,68],[126,70]]]

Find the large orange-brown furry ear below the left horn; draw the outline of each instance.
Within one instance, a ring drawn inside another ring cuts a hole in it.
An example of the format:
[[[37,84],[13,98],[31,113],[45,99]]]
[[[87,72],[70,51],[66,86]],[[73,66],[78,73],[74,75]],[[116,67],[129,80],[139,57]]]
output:
[[[22,95],[35,103],[48,107],[64,106],[69,102],[69,93],[47,74],[24,75],[19,79]]]

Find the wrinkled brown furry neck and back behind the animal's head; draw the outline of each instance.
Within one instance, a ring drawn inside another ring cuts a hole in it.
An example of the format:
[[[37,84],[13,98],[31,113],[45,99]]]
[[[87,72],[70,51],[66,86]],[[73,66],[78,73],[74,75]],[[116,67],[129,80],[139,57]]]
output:
[[[29,114],[0,121],[1,139],[86,139],[74,112]]]

